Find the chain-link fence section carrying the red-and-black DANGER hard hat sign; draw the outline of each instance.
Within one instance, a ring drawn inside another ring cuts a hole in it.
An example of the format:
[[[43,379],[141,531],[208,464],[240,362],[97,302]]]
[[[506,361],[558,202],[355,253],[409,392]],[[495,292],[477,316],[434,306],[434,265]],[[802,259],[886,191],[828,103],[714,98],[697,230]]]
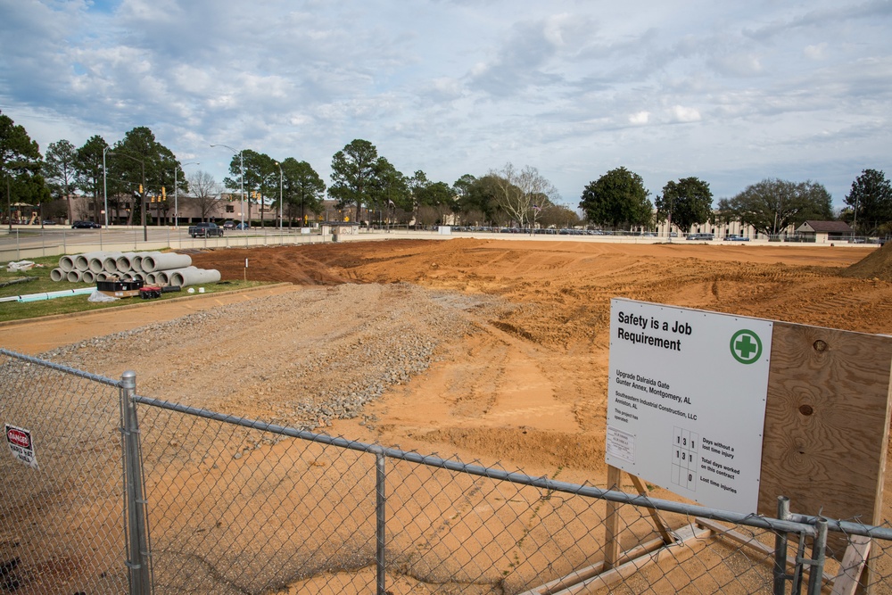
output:
[[[128,591],[119,387],[97,378],[0,355],[7,591]]]

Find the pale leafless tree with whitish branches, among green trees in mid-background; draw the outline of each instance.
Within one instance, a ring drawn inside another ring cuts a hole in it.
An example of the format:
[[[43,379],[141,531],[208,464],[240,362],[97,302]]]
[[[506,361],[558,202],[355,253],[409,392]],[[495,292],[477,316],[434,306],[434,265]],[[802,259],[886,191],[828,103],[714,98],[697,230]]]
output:
[[[490,176],[496,186],[497,208],[520,227],[534,225],[559,198],[558,189],[529,165],[518,171],[506,163],[499,171],[490,171]]]

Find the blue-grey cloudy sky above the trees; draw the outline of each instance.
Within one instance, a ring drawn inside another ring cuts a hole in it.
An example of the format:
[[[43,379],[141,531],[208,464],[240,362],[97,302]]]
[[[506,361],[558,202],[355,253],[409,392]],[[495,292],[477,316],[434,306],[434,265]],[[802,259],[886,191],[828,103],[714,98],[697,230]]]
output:
[[[507,162],[583,187],[625,166],[716,200],[892,176],[892,0],[0,0],[0,111],[44,151],[152,128],[309,161],[363,138],[435,181]]]

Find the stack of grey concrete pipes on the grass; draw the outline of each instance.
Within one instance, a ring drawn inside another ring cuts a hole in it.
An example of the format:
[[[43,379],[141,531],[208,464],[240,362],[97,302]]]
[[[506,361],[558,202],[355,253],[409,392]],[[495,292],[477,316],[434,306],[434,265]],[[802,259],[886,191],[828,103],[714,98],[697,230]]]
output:
[[[138,279],[145,285],[186,287],[217,283],[220,274],[217,269],[193,267],[188,254],[176,252],[84,252],[62,256],[50,278],[70,283]]]

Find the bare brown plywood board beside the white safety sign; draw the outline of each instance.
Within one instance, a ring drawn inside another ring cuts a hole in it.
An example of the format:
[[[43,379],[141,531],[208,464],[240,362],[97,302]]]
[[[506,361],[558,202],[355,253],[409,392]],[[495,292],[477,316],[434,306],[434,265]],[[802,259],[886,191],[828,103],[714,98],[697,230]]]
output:
[[[775,323],[759,513],[879,525],[892,337]]]

